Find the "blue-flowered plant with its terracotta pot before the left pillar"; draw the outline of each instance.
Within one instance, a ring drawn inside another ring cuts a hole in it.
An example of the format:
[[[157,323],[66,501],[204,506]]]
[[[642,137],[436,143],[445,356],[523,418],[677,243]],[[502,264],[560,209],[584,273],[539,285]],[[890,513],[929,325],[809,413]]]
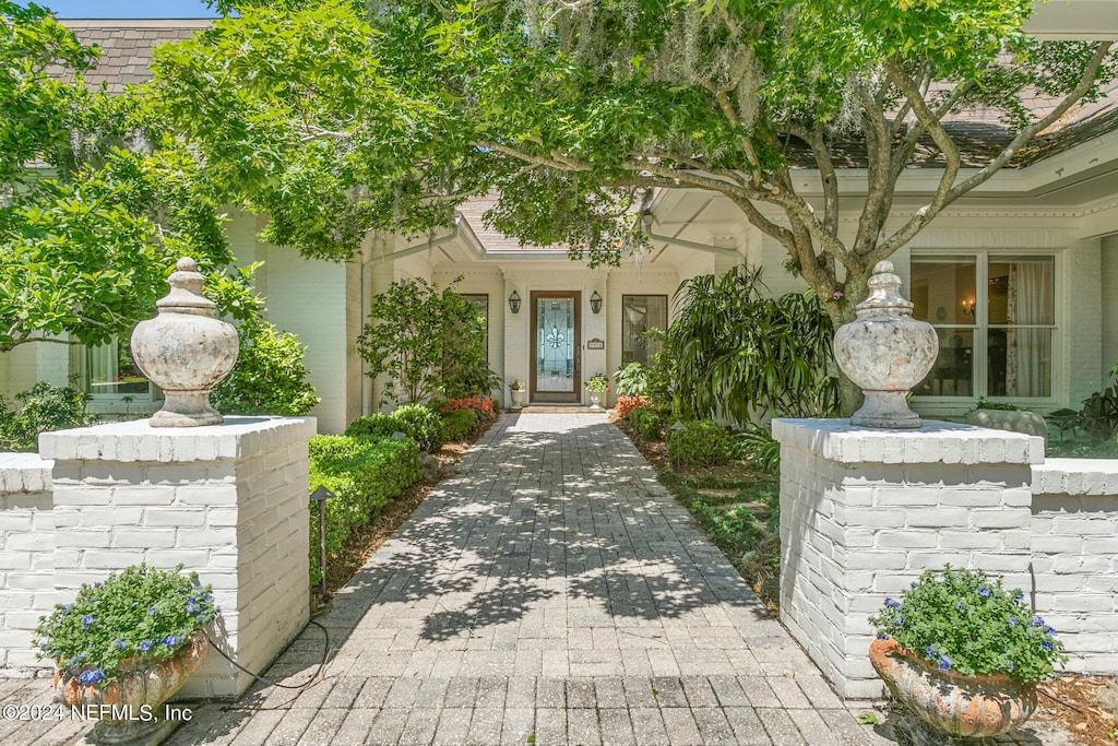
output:
[[[97,743],[159,743],[179,725],[161,706],[206,659],[203,627],[218,613],[210,586],[181,570],[138,565],[85,584],[35,631],[37,654],[58,667],[58,698],[101,716]]]

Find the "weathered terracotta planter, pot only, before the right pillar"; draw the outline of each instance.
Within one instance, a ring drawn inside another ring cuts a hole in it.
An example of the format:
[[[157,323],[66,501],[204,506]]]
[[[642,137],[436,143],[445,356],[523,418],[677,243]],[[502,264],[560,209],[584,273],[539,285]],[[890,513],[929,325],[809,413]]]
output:
[[[896,640],[874,640],[870,662],[889,691],[928,725],[953,736],[998,736],[1036,709],[1036,684],[1005,674],[940,671]]]

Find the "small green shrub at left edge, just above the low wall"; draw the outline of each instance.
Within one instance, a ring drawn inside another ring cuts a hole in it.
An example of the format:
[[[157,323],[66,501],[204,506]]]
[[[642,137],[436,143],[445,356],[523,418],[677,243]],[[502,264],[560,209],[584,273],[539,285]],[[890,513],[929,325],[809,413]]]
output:
[[[39,433],[96,422],[85,410],[88,400],[88,394],[41,380],[16,395],[16,408],[0,396],[0,451],[36,451]]]

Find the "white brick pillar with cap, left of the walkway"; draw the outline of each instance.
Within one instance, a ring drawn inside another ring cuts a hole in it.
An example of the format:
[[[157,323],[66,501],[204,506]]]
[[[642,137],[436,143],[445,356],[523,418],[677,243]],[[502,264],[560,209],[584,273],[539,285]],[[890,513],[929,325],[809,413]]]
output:
[[[313,418],[227,417],[206,427],[146,421],[47,433],[54,459],[55,588],[148,563],[197,570],[221,607],[219,642],[260,672],[309,618],[307,441]],[[252,683],[217,652],[187,697]]]

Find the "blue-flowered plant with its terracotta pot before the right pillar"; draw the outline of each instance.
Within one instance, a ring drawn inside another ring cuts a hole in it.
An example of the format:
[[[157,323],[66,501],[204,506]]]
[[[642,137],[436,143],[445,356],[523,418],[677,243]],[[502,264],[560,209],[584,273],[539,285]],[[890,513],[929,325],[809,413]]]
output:
[[[1067,661],[1055,630],[982,570],[926,572],[870,617],[870,661],[889,690],[932,727],[994,736],[1036,708],[1036,684]]]

